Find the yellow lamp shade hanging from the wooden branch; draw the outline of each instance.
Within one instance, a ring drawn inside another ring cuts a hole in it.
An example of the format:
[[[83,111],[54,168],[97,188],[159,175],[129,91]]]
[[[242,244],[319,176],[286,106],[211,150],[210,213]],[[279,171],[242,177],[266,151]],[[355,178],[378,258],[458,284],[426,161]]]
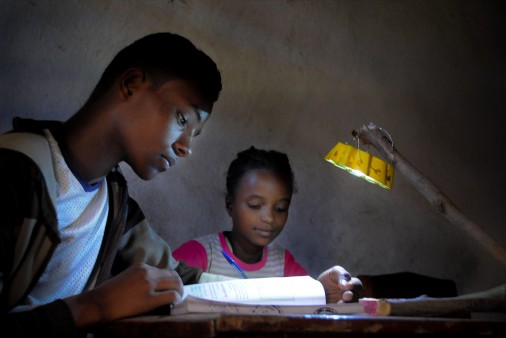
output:
[[[325,160],[370,183],[392,189],[394,167],[363,150],[339,142]]]

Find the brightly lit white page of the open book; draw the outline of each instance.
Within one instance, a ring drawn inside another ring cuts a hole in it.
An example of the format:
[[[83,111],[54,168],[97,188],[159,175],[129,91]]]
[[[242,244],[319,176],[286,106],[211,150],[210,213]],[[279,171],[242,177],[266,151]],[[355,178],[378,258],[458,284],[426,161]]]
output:
[[[325,304],[322,284],[310,276],[235,279],[185,286],[185,296],[270,305]]]

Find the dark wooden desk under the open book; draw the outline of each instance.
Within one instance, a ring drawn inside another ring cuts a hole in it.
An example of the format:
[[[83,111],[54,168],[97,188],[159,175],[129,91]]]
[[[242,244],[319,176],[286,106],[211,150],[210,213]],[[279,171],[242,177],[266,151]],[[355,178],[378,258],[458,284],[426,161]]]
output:
[[[506,337],[506,321],[337,315],[144,316],[103,326],[97,337]]]

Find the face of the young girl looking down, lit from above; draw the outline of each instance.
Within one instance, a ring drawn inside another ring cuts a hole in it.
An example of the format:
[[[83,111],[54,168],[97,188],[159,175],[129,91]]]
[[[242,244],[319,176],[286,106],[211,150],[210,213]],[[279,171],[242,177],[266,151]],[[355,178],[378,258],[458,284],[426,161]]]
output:
[[[246,249],[271,243],[285,226],[291,198],[285,181],[271,171],[247,172],[238,183],[235,199],[226,201],[235,245]]]

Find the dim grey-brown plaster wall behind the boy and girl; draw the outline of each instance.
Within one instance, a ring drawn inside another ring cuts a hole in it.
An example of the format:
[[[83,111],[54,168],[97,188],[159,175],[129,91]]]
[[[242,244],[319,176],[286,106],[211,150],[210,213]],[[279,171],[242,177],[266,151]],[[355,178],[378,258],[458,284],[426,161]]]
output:
[[[0,131],[65,120],[126,44],[172,31],[218,64],[223,91],[193,156],[131,194],[172,247],[230,228],[225,172],[250,145],[286,152],[298,186],[285,231],[313,276],[413,271],[496,286],[506,268],[398,174],[391,191],[323,160],[373,122],[506,246],[506,7],[499,1],[0,0]],[[374,149],[370,149],[374,154]]]

